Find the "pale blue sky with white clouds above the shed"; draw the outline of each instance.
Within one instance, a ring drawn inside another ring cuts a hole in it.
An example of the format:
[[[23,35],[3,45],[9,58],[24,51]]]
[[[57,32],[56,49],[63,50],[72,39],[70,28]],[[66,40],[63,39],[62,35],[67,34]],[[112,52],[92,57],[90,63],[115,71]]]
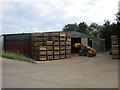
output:
[[[35,2],[36,1],[36,2]],[[119,0],[3,0],[2,33],[61,31],[65,24],[115,22]]]

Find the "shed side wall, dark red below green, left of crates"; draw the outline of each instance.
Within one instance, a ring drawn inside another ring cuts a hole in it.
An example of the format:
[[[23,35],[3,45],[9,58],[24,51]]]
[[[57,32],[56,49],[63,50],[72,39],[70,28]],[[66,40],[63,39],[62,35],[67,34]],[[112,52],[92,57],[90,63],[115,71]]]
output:
[[[4,44],[5,52],[31,57],[31,34],[5,35]]]

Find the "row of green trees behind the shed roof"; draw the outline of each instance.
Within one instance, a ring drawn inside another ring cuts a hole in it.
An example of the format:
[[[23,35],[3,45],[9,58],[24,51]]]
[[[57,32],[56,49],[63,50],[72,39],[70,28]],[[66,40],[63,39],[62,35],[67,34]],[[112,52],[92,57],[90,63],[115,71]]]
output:
[[[118,18],[120,20],[120,18]],[[111,49],[111,35],[120,35],[120,23],[110,23],[104,21],[103,25],[91,23],[87,25],[85,22],[79,24],[67,24],[64,26],[63,31],[78,31],[81,33],[89,34],[98,38],[105,39],[106,50]]]

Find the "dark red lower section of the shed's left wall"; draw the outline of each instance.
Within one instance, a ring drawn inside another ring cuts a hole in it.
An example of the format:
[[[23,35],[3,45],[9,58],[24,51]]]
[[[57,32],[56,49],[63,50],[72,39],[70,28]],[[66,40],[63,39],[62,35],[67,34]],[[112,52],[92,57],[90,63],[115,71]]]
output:
[[[5,51],[30,56],[30,40],[6,40]]]

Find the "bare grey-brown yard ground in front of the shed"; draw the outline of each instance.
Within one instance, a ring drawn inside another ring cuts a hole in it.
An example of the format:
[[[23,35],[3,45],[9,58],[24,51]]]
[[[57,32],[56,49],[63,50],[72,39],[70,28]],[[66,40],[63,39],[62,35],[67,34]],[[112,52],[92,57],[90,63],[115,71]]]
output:
[[[118,60],[107,52],[39,64],[3,58],[2,70],[3,88],[118,88]]]

